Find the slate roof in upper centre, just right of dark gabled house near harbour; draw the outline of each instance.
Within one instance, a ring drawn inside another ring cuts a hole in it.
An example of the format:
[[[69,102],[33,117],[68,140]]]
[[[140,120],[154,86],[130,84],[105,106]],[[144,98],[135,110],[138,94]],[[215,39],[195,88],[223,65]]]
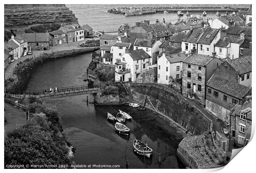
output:
[[[165,23],[154,23],[150,26],[154,29],[154,35],[158,36],[159,38],[173,34]]]

